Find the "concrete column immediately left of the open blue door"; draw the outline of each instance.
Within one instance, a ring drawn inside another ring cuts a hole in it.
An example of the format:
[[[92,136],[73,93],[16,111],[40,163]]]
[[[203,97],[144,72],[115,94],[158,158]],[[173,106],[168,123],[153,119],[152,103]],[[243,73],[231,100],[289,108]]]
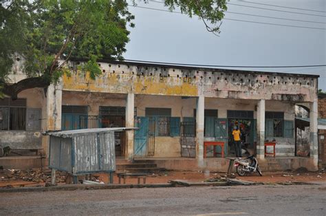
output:
[[[135,94],[129,93],[127,95],[127,106],[126,106],[126,127],[134,127],[134,114],[135,114]],[[126,150],[125,158],[129,161],[133,160],[133,130],[126,131]]]

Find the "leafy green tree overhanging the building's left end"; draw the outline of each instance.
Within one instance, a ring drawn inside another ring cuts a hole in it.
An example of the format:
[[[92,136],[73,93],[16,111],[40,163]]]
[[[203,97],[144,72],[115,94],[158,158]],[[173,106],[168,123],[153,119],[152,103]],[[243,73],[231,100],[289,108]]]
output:
[[[147,2],[147,0],[145,0]],[[101,58],[122,60],[133,15],[125,0],[0,1],[0,93],[13,99],[24,89],[47,87],[69,73],[72,57],[87,59],[83,71],[95,78]],[[210,32],[224,17],[226,0],[166,0],[170,10],[198,15]],[[16,58],[16,59],[15,59]],[[10,83],[14,61],[23,61],[26,78]],[[63,60],[59,61],[59,60]],[[1,95],[0,95],[1,96]]]

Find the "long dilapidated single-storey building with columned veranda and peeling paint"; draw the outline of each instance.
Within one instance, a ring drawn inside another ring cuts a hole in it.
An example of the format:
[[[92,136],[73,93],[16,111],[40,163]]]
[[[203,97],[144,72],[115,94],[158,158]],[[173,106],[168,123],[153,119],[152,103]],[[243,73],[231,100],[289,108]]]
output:
[[[224,149],[216,151],[234,155],[231,131],[237,125],[265,166],[317,169],[318,76],[111,61],[100,63],[102,75],[91,80],[76,70],[78,64],[71,63],[72,76],[47,91],[21,92],[19,105],[1,100],[2,145],[47,149],[40,131],[135,126],[139,130],[116,135],[117,155],[126,160],[225,170],[228,160],[219,154],[204,158],[204,142],[222,141]],[[295,157],[294,107],[301,103],[312,110],[305,158]],[[275,158],[265,157],[265,140],[276,141]]]

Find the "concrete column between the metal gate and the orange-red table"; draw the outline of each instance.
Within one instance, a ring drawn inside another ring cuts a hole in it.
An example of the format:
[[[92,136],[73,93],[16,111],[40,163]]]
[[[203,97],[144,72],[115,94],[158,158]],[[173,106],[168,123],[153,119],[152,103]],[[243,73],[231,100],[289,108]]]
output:
[[[197,146],[197,160],[199,168],[204,168],[204,110],[205,110],[205,97],[199,96],[197,98],[196,109],[196,146]]]

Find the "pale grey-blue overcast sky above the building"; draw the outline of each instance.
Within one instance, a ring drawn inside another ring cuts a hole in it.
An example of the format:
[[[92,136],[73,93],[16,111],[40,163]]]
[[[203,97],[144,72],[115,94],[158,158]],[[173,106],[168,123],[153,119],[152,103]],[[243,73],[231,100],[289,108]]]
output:
[[[274,6],[254,4],[248,1]],[[124,58],[201,65],[326,65],[326,30],[312,29],[326,29],[325,0],[248,1],[231,0],[229,3],[242,6],[228,5],[228,12],[301,21],[226,13],[226,19],[224,19],[221,25],[221,34],[218,37],[207,32],[204,24],[198,20],[198,17],[191,19],[184,14],[130,6],[130,11],[135,15],[135,28],[131,29],[131,41],[127,45],[127,52],[124,54]],[[149,1],[147,4],[140,1],[137,5],[167,10],[162,3],[152,1]],[[305,10],[275,6],[303,8]],[[259,8],[272,10],[262,10]],[[307,14],[314,14],[314,16]],[[238,19],[241,21],[228,19]],[[308,28],[242,21],[296,25]],[[252,70],[318,74],[320,75],[319,88],[326,91],[326,67],[252,68]]]

